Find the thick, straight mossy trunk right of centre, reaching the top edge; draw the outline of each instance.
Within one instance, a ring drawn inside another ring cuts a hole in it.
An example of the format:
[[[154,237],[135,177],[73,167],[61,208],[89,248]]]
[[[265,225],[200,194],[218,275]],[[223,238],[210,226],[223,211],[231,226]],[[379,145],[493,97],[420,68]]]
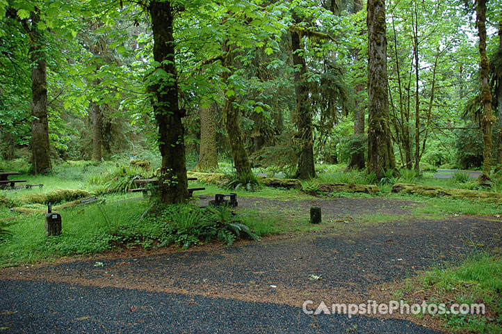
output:
[[[394,170],[396,160],[389,127],[387,40],[384,0],[368,1],[368,170],[378,179]]]

